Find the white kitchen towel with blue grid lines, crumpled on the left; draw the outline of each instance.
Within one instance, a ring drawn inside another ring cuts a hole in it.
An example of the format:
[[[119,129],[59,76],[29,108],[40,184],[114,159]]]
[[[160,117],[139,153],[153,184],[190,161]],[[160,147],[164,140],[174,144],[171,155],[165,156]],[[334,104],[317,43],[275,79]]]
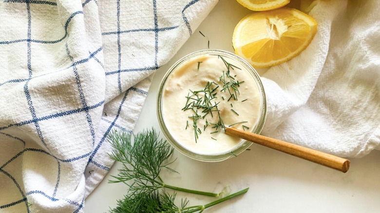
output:
[[[217,0],[1,0],[0,212],[78,213]]]

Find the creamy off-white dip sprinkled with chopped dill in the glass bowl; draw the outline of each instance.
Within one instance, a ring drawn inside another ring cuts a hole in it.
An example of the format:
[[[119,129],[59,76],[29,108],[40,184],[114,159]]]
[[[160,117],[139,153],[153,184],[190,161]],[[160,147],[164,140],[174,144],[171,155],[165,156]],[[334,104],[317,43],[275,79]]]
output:
[[[226,135],[220,126],[216,128],[220,118],[225,126],[234,124],[231,127],[251,131],[262,106],[261,93],[251,73],[240,62],[218,55],[197,56],[176,67],[166,81],[162,99],[163,119],[171,136],[187,150],[201,155],[229,153],[243,141]]]

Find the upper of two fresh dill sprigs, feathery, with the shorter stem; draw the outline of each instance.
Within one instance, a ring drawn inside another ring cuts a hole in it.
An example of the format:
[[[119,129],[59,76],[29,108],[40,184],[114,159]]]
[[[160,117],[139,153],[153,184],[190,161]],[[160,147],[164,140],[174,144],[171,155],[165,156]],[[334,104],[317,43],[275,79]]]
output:
[[[118,170],[119,174],[111,176],[115,179],[109,182],[127,184],[130,195],[169,188],[199,195],[218,196],[215,193],[171,186],[159,177],[163,168],[176,172],[168,167],[174,161],[170,161],[174,149],[166,141],[159,140],[154,129],[133,135],[133,142],[131,134],[125,131],[113,131],[109,134],[108,141],[114,148],[110,157],[122,163],[122,167]]]

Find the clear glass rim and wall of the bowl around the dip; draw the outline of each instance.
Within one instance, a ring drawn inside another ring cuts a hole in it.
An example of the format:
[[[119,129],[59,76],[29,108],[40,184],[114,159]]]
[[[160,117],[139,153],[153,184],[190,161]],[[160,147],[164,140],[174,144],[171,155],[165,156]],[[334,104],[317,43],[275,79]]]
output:
[[[224,58],[224,59],[228,60],[229,63],[231,63],[231,64],[233,62],[234,65],[237,64],[239,66],[239,68],[243,68],[243,69],[241,69],[242,71],[244,71],[244,70],[247,71],[249,73],[248,76],[252,77],[252,79],[254,80],[254,82],[256,83],[256,86],[257,86],[257,89],[255,92],[259,93],[258,97],[260,100],[260,106],[258,109],[257,119],[256,119],[254,125],[252,125],[252,128],[249,128],[248,130],[250,130],[253,133],[260,134],[261,130],[263,129],[265,119],[266,119],[266,96],[265,96],[265,92],[264,92],[262,82],[260,80],[260,76],[255,71],[255,69],[251,65],[249,65],[247,63],[247,61],[245,61],[243,58],[237,56],[236,54],[229,53],[229,52],[226,52],[223,50],[208,49],[208,50],[201,50],[201,51],[197,51],[194,53],[190,53],[190,54],[184,56],[183,58],[179,59],[176,63],[174,63],[174,65],[171,66],[171,68],[166,72],[164,78],[162,79],[162,81],[160,83],[160,87],[159,87],[159,91],[158,91],[158,95],[157,95],[157,117],[158,117],[158,121],[159,121],[162,133],[164,134],[164,136],[166,137],[168,142],[177,151],[179,151],[183,155],[185,155],[191,159],[194,159],[194,160],[207,161],[207,162],[217,162],[217,161],[227,160],[229,158],[232,158],[234,156],[239,155],[240,153],[245,151],[252,144],[252,142],[241,140],[238,144],[234,145],[233,147],[231,147],[227,151],[207,153],[207,154],[197,153],[197,152],[194,152],[194,151],[190,150],[189,148],[187,148],[180,141],[178,141],[178,139],[175,139],[171,130],[168,128],[168,124],[166,123],[166,122],[169,122],[168,121],[169,118],[165,119],[165,116],[171,116],[171,114],[173,114],[173,113],[171,113],[170,115],[165,115],[163,113],[163,111],[164,111],[163,110],[163,107],[164,107],[163,103],[164,103],[165,87],[168,83],[168,79],[173,74],[173,72],[176,71],[177,69],[184,69],[184,67],[186,67],[184,65],[186,65],[188,62],[194,61],[194,60],[198,59],[199,57],[203,58],[203,57],[207,57],[207,56],[218,56],[218,58],[220,57],[220,58]],[[201,62],[198,62],[198,71],[199,71],[200,63]],[[224,72],[223,72],[223,75],[225,75]],[[194,79],[193,79],[193,81],[199,81],[199,80],[200,79],[197,79],[196,77],[194,77]],[[182,108],[183,106],[178,106],[178,107]],[[183,131],[185,131],[185,126],[183,128]]]

